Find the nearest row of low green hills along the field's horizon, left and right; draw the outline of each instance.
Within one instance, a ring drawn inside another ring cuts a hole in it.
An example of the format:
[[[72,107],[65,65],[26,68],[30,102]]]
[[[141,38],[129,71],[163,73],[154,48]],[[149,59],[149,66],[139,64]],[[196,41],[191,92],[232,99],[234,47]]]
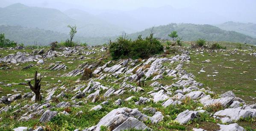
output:
[[[161,39],[171,39],[168,34],[177,31],[179,37],[184,41],[196,41],[198,38],[204,38],[207,41],[231,41],[231,42],[247,42],[248,44],[256,44],[256,38],[244,35],[234,31],[225,31],[211,25],[197,24],[169,24],[165,26],[154,27],[154,36]],[[26,28],[21,26],[0,26],[0,33],[4,32],[6,37],[17,41],[18,43],[47,45],[52,41],[65,41],[68,35],[50,30],[38,28]],[[150,29],[141,32],[127,34],[128,38],[135,39],[138,35],[146,37],[150,35]],[[118,36],[109,37],[81,37],[75,36],[74,41],[86,42],[91,45],[104,44],[111,39],[115,40]]]

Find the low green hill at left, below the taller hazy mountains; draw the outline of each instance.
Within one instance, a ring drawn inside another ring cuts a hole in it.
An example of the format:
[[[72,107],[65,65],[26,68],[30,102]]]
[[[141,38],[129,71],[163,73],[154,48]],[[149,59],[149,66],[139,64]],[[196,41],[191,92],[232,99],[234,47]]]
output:
[[[48,45],[53,41],[65,41],[69,36],[64,33],[44,30],[39,28],[27,28],[21,26],[0,26],[0,34],[4,33],[6,38],[11,41],[16,41],[18,44],[25,45]],[[103,44],[109,40],[109,37],[81,37],[75,36],[74,41],[86,42],[90,45]]]

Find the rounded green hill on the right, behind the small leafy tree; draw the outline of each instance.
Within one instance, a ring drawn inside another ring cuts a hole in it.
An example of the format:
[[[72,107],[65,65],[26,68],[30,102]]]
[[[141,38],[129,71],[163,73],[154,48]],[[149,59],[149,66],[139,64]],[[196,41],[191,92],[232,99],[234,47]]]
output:
[[[171,39],[168,34],[177,31],[179,37],[184,41],[196,41],[198,38],[204,38],[207,41],[230,41],[247,42],[256,44],[256,39],[234,31],[226,31],[211,25],[198,25],[188,23],[171,23],[165,26],[154,27],[154,36],[161,39]],[[129,38],[136,38],[138,35],[143,37],[150,34],[150,29],[128,35]]]

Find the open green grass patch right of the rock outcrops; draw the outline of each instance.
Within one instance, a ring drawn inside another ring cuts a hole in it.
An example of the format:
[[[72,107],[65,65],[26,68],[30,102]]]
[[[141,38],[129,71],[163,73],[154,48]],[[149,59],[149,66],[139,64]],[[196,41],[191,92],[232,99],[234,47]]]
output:
[[[225,56],[225,53],[192,52],[191,62],[185,64],[185,67],[196,76],[198,82],[204,83],[204,87],[216,93],[232,90],[247,102],[256,102],[256,57],[243,55],[242,52],[230,56]],[[211,62],[202,62],[205,60]],[[206,72],[199,74],[202,68]]]

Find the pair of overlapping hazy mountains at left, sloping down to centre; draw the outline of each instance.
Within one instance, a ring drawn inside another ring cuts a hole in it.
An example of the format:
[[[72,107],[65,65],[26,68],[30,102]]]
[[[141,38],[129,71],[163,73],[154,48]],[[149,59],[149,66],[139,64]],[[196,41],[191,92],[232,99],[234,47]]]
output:
[[[68,34],[68,24],[76,24],[79,32],[77,35],[85,37],[118,35],[124,30],[79,10],[61,12],[57,9],[29,7],[21,3],[0,8],[0,25],[37,27]]]

